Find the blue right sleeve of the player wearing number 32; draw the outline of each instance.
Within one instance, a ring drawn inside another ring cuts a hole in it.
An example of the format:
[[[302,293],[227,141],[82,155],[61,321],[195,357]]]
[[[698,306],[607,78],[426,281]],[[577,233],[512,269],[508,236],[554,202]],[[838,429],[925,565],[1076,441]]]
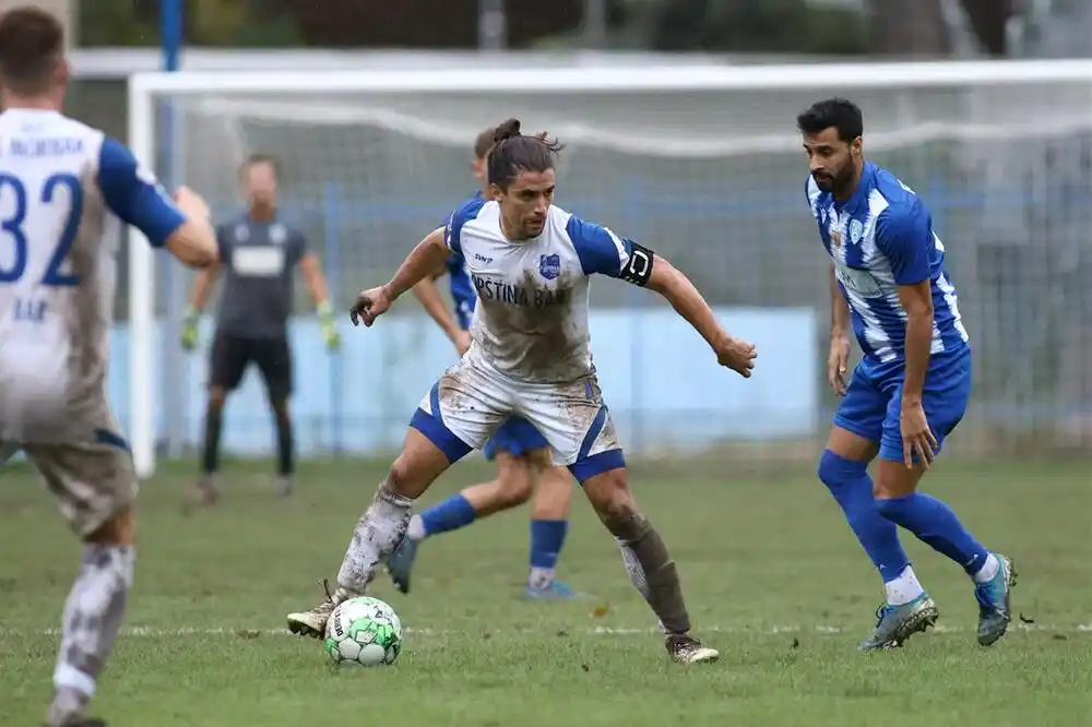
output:
[[[136,164],[124,144],[110,136],[103,140],[97,181],[106,206],[155,247],[165,245],[186,222],[155,177]]]

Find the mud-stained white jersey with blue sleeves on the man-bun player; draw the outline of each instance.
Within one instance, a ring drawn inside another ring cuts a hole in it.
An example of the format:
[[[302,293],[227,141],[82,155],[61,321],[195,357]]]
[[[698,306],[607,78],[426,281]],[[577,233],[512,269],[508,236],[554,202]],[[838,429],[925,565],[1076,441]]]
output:
[[[575,381],[595,371],[589,348],[587,282],[624,277],[633,243],[551,206],[542,234],[509,240],[497,202],[475,199],[455,210],[444,231],[477,291],[468,357],[513,379]]]

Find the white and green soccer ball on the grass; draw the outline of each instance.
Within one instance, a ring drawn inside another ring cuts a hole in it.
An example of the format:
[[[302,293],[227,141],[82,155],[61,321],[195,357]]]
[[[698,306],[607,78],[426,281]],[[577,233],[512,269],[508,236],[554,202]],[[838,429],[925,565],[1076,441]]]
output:
[[[349,598],[330,615],[323,645],[336,664],[394,664],[402,651],[402,621],[378,598]]]

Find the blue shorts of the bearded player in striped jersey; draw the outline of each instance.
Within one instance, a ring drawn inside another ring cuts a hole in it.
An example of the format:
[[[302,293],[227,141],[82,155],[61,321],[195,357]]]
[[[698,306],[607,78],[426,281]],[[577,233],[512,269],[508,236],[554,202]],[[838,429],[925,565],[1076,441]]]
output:
[[[834,425],[880,443],[880,456],[902,462],[902,382],[905,368],[864,359],[853,370]],[[936,355],[929,360],[922,408],[937,440],[937,452],[963,418],[971,398],[971,349]]]

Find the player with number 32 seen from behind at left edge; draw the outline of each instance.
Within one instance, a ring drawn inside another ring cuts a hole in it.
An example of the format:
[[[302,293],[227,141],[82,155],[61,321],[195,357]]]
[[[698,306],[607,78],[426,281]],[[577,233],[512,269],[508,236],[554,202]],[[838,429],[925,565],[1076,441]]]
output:
[[[200,196],[176,204],[122,144],[61,115],[63,49],[52,15],[0,17],[0,462],[23,450],[83,540],[46,724],[93,727],[134,559],[136,474],[106,396],[119,222],[194,266],[216,240]]]

